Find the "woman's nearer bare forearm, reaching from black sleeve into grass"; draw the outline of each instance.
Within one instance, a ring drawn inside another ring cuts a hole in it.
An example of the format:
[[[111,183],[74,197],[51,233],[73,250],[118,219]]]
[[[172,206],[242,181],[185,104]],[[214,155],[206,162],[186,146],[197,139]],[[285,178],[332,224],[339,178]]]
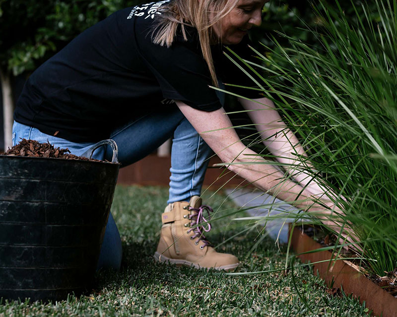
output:
[[[309,191],[286,178],[270,161],[245,147],[223,108],[206,112],[179,101],[177,105],[216,155],[223,162],[231,163],[228,165],[230,170],[299,209],[330,212],[313,200]]]

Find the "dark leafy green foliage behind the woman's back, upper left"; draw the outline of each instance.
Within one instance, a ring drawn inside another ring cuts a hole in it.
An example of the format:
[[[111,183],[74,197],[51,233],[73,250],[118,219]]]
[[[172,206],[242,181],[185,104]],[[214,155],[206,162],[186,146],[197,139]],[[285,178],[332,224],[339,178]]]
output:
[[[32,71],[79,33],[137,0],[0,0],[0,67]]]

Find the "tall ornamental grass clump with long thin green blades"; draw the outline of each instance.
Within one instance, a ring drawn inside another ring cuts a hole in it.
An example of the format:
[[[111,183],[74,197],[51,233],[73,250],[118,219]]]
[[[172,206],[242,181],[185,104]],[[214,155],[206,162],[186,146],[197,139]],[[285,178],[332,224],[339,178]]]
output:
[[[240,68],[300,139],[315,166],[301,171],[346,198],[336,202],[344,220],[383,276],[397,266],[397,1],[350,3],[349,16],[338,0],[313,3],[315,45],[279,33],[275,48],[253,49],[257,61]]]

